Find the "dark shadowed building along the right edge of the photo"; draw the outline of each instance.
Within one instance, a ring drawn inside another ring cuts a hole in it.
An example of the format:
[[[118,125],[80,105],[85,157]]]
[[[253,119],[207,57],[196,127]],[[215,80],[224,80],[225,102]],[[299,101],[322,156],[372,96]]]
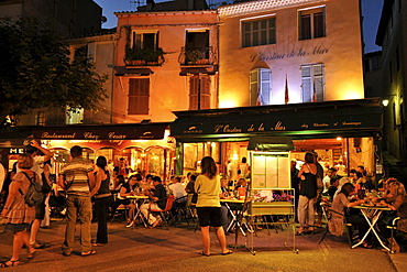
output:
[[[384,149],[399,162],[407,160],[407,7],[402,0],[384,1],[376,35],[382,46],[383,96],[388,100],[384,112]]]

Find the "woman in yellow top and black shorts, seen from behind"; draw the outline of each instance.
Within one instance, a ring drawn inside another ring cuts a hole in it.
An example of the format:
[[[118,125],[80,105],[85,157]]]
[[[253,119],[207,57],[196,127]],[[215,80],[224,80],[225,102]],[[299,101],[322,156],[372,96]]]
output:
[[[221,208],[220,208],[220,178],[218,176],[217,164],[210,156],[205,156],[201,160],[201,174],[195,183],[195,191],[198,193],[197,214],[200,225],[200,233],[204,243],[204,250],[199,252],[201,255],[210,255],[210,235],[209,227],[212,226],[216,230],[219,244],[222,249],[222,255],[231,254],[233,251],[227,248],[227,238],[221,225]]]

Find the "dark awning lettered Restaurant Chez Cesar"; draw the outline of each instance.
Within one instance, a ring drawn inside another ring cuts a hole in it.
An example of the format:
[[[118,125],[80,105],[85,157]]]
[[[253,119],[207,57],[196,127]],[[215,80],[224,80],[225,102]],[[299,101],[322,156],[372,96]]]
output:
[[[34,138],[43,140],[161,140],[169,123],[78,124],[41,127]]]

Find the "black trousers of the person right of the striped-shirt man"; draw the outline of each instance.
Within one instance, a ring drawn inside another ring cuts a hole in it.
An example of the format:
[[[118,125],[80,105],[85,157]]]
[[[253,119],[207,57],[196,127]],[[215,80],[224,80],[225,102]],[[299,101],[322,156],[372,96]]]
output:
[[[108,213],[111,197],[95,198],[96,217],[98,218],[97,243],[108,243]]]

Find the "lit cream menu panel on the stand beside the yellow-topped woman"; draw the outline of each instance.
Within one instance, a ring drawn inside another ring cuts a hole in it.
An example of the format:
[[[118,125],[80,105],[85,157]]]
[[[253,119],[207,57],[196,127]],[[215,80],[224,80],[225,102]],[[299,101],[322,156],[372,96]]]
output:
[[[290,189],[288,152],[252,152],[252,189]]]

